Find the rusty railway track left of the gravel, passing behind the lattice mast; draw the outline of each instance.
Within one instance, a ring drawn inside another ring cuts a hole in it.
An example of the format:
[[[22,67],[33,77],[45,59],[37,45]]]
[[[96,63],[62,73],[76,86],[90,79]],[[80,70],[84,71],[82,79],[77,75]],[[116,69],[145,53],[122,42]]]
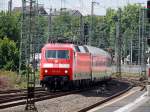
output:
[[[72,91],[65,91],[65,92],[48,92],[42,89],[36,90],[35,91],[35,98],[34,101],[42,101],[42,100],[47,100],[47,99],[52,99],[60,96],[65,96],[69,94],[75,94],[78,92],[82,91],[87,91],[91,88],[86,88],[86,89],[79,89],[79,90],[72,90]],[[9,107],[14,107],[14,106],[19,106],[19,105],[24,105],[26,104],[26,97],[27,97],[27,92],[26,90],[10,90],[1,92],[0,93],[0,109],[5,109]]]

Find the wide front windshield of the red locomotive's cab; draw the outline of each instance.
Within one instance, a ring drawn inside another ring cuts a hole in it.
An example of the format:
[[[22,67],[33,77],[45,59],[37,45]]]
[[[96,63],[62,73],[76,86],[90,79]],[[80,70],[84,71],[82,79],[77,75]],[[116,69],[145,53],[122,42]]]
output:
[[[46,50],[46,58],[69,59],[68,50]]]

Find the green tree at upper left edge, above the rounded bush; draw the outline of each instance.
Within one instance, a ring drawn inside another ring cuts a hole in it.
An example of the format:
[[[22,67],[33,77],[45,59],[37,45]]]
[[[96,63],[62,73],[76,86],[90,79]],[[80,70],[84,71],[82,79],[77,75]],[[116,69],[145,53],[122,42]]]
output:
[[[0,12],[0,38],[8,37],[15,42],[19,42],[20,37],[20,13]]]

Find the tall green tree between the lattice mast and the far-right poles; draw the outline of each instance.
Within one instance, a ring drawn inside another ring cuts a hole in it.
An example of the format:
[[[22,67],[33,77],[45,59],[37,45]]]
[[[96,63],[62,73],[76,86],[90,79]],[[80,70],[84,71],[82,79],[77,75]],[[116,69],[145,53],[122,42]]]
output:
[[[138,57],[138,30],[139,30],[139,5],[127,5],[122,10],[121,17],[121,29],[122,29],[122,40],[123,40],[123,55],[126,57],[129,55],[131,48],[131,41],[133,41],[133,61],[137,60]]]

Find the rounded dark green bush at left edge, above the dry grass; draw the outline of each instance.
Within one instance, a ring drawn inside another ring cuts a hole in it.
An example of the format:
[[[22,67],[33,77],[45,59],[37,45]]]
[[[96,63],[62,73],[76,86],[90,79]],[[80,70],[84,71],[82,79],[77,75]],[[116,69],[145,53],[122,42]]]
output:
[[[7,37],[0,39],[0,69],[17,71],[19,66],[19,51],[16,43]]]

